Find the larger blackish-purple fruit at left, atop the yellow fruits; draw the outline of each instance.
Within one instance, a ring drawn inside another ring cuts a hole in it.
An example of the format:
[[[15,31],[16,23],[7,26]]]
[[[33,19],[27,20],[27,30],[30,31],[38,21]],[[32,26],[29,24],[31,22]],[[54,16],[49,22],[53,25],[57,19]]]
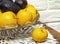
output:
[[[0,9],[5,12],[5,11],[13,11],[17,13],[21,8],[19,5],[15,4],[11,0],[2,0],[0,2]]]

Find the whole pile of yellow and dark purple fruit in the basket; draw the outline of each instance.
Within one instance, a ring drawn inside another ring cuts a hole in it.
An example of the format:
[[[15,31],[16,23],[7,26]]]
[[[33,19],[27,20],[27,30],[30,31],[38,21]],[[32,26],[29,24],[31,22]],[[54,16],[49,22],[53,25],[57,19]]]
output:
[[[37,20],[37,9],[26,0],[0,1],[0,27],[26,26]]]

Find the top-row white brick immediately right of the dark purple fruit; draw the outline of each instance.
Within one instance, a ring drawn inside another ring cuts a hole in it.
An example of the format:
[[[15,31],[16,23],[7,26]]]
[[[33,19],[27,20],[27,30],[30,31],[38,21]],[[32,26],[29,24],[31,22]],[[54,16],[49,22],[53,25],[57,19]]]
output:
[[[27,0],[28,3],[33,4],[38,10],[46,10],[48,7],[47,0]]]

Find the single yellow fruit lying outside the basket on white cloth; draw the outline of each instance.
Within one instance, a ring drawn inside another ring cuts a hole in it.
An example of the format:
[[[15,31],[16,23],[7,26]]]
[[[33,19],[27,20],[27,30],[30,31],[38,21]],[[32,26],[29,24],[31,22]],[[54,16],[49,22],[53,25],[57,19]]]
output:
[[[43,42],[47,39],[48,33],[45,28],[35,28],[32,32],[32,39],[37,42]]]

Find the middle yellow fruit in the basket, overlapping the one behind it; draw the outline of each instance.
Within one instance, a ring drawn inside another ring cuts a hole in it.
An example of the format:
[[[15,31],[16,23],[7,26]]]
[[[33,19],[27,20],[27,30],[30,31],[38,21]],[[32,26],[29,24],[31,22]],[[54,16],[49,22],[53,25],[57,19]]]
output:
[[[17,22],[20,26],[31,24],[32,15],[26,9],[22,9],[17,13]]]

